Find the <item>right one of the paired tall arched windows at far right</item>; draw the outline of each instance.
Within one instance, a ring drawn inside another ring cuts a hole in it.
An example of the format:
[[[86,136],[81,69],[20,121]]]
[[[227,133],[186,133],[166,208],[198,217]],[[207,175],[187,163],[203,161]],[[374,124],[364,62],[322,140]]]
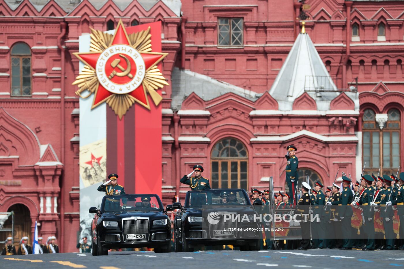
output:
[[[400,111],[390,109],[383,128],[383,174],[396,174],[400,166]]]

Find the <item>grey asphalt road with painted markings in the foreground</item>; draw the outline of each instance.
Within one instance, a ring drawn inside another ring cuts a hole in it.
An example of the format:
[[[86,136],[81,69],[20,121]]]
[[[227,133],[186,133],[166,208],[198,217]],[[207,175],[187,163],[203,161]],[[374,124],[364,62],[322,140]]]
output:
[[[1,256],[0,268],[396,268],[404,266],[400,250],[237,250],[187,253],[109,252],[109,256],[91,253],[36,254]]]

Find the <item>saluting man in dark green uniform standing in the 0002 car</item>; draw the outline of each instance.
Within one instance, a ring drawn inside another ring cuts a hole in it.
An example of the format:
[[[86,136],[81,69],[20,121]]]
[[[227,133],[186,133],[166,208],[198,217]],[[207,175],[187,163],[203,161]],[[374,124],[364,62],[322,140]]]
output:
[[[122,185],[118,185],[118,175],[110,174],[108,176],[109,181],[102,183],[101,186],[98,187],[98,191],[105,191],[105,195],[112,196],[111,198],[107,198],[105,200],[105,210],[120,210],[126,208],[126,198],[122,198],[122,207],[120,206],[120,198],[114,198],[114,195],[123,195],[125,193],[125,189]],[[111,184],[109,184],[111,183]]]

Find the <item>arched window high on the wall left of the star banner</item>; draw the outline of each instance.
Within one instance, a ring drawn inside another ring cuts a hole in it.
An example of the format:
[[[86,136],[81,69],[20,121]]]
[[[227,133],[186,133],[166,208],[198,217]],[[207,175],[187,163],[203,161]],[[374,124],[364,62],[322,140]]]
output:
[[[31,96],[31,49],[23,42],[11,48],[11,96]]]

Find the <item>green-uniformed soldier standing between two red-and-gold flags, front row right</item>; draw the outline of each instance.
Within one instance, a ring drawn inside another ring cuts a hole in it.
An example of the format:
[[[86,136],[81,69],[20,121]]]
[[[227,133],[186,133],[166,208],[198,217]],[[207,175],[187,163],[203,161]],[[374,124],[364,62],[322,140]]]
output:
[[[368,174],[365,174],[364,178],[366,181],[366,189],[364,189],[359,199],[359,204],[362,205],[363,208],[367,241],[366,246],[362,248],[362,250],[375,250],[375,223],[373,222],[375,210],[371,206],[375,193],[375,188],[372,186],[374,178]]]

